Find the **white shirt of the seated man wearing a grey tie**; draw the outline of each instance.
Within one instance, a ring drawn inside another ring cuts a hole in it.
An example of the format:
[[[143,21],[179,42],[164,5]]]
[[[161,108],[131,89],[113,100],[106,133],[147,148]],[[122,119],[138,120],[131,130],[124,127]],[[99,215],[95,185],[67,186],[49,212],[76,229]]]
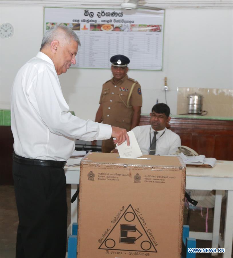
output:
[[[144,126],[136,126],[132,129],[132,131],[135,134],[142,154],[149,154],[149,149],[152,139],[154,137],[155,130],[153,130],[153,128],[149,124]],[[181,140],[179,135],[167,128],[157,132],[158,134],[156,135],[155,155],[174,154],[177,150],[177,147],[181,146]]]

